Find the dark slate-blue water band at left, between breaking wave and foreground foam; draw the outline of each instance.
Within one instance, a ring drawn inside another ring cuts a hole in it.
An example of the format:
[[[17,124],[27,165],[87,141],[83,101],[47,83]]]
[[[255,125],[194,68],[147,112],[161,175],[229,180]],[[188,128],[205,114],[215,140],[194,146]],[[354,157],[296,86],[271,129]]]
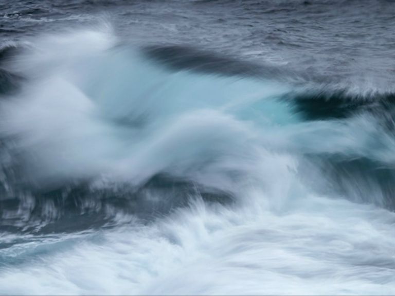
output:
[[[228,203],[232,194],[205,188],[194,182],[156,175],[140,187],[114,184],[92,188],[88,182],[64,184],[52,189],[15,188],[0,198],[0,231],[60,233],[99,229],[116,224],[118,214],[141,221],[186,207],[192,196],[206,202]]]

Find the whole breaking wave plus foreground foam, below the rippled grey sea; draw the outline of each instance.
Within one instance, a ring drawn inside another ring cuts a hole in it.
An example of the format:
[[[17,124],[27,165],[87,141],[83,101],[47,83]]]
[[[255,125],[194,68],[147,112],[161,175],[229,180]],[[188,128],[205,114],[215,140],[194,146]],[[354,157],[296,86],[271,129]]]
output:
[[[392,94],[99,30],[6,52],[0,293],[393,293]]]

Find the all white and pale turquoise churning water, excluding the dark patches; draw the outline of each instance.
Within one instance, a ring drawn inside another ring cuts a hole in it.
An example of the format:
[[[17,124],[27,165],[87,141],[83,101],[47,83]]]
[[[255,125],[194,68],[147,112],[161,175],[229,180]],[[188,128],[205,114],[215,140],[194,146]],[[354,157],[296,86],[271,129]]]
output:
[[[190,207],[148,224],[120,215],[129,223],[3,249],[19,263],[1,265],[0,293],[395,293],[395,214],[302,181],[326,184],[303,153],[391,163],[393,140],[374,147],[374,122],[303,123],[277,99],[290,86],[170,72],[114,45],[97,31],[45,36],[12,64],[30,80],[2,101],[0,126],[25,181],[138,186],[167,173],[234,202],[185,196]]]

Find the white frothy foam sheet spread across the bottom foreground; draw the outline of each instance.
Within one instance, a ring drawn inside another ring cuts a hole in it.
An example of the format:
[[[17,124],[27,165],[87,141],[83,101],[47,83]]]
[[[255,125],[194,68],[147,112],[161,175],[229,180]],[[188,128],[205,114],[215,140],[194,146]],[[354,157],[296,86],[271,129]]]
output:
[[[248,200],[237,208],[209,207],[197,198],[191,209],[152,226],[81,236],[66,248],[31,244],[26,249],[44,254],[3,268],[1,292],[394,293],[392,213],[309,196],[290,197],[274,211],[261,191],[243,197]]]

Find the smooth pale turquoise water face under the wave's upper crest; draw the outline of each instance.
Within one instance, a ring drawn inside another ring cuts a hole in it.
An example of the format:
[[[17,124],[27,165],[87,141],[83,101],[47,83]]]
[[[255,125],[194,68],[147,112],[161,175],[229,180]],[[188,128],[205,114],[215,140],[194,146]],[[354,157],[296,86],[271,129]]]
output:
[[[89,73],[83,75],[88,80],[80,81],[80,86],[98,104],[102,116],[116,122],[141,127],[199,109],[214,109],[258,125],[300,120],[290,103],[282,100],[291,87],[275,81],[171,69],[119,48],[89,63]]]

